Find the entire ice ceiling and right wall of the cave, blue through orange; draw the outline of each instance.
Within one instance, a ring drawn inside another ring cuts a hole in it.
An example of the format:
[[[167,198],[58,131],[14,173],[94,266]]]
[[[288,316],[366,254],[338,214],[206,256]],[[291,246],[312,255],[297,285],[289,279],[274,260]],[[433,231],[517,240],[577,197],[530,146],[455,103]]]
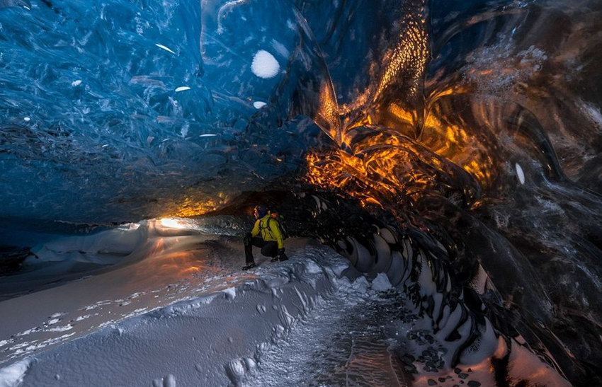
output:
[[[482,267],[497,328],[528,332],[574,383],[596,376],[595,1],[0,6],[0,216],[200,214],[291,181],[335,192],[435,236],[456,287]]]

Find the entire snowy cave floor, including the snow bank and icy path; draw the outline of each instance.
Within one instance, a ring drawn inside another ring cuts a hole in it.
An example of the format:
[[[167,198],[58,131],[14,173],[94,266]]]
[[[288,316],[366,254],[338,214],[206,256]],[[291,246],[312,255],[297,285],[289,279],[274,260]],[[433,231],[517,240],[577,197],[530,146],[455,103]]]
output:
[[[29,265],[106,268],[0,302],[0,387],[494,382],[489,357],[438,365],[445,345],[386,275],[366,279],[298,238],[285,243],[287,262],[256,255],[259,267],[241,272],[241,238],[207,231],[145,221],[38,246]]]

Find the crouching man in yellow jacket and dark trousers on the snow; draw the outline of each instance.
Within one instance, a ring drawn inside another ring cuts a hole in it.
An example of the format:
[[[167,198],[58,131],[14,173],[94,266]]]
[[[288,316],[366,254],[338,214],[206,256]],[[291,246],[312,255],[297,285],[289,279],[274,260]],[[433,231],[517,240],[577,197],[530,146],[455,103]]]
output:
[[[250,233],[244,237],[244,258],[246,265],[242,270],[255,267],[253,259],[253,246],[261,248],[261,254],[272,257],[272,262],[288,260],[284,253],[282,231],[276,219],[268,214],[266,207],[257,206],[254,209],[255,225]]]

